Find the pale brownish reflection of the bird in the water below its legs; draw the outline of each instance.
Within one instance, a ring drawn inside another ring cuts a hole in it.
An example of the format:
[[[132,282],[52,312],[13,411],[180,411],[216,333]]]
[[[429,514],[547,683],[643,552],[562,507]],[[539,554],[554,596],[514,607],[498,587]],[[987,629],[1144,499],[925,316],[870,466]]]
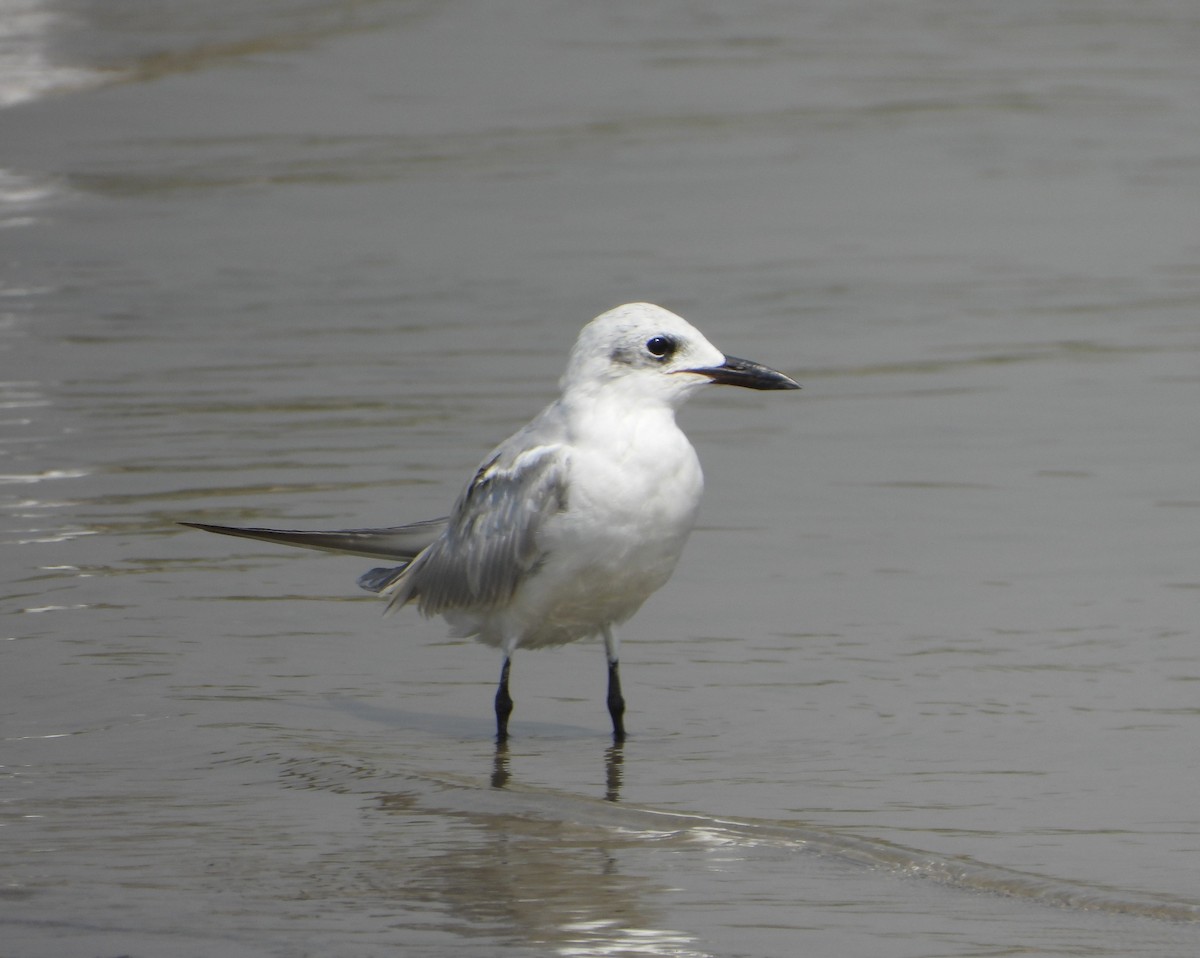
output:
[[[330,884],[398,905],[397,922],[415,915],[409,920],[422,932],[484,941],[485,951],[494,940],[536,954],[710,958],[666,917],[671,886],[648,876],[655,868],[671,875],[692,860],[686,832],[614,827],[577,814],[568,796],[504,790],[510,758],[497,749],[494,788],[484,796],[469,788],[380,796],[389,827],[353,855],[338,850]],[[619,768],[620,750],[606,759]]]

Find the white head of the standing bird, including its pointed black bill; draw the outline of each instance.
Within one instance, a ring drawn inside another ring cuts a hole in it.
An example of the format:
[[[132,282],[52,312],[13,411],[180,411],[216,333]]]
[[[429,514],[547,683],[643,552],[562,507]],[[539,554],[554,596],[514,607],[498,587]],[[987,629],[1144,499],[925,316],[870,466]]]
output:
[[[649,303],[618,306],[583,327],[562,379],[564,396],[619,390],[672,408],[708,383],[799,389],[781,372],[725,355],[682,316]]]

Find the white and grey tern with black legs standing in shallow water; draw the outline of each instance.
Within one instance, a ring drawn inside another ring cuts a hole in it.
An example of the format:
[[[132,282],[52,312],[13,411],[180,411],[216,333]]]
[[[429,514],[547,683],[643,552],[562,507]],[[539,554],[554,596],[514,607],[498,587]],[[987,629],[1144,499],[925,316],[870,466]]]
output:
[[[386,598],[388,611],[415,604],[452,635],[502,652],[498,744],[509,737],[516,651],[601,637],[619,744],[617,628],[666,583],[695,526],[703,473],[676,412],[713,383],[800,388],[724,354],[661,306],[629,303],[583,327],[558,399],[485,456],[448,516],[338,531],[182,525],[395,563],[359,586]]]

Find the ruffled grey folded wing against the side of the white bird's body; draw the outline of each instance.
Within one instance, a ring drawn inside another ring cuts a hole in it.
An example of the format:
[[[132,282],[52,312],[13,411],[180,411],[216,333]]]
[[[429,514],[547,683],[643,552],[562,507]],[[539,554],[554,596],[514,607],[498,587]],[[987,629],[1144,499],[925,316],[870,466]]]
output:
[[[508,601],[539,567],[545,553],[538,532],[566,507],[568,451],[558,442],[514,441],[479,468],[445,532],[407,568],[376,582],[391,597],[389,609],[416,599],[427,616],[486,611]]]

